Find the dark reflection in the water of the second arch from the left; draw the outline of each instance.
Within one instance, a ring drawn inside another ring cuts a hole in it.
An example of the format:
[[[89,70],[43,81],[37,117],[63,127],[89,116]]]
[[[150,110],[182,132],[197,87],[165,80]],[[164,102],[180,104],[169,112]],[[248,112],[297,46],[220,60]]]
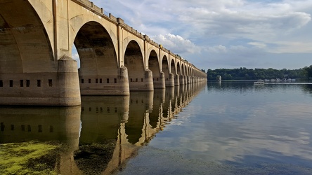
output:
[[[74,161],[84,174],[100,174],[114,156],[118,133],[129,118],[129,97],[82,97],[82,131]]]

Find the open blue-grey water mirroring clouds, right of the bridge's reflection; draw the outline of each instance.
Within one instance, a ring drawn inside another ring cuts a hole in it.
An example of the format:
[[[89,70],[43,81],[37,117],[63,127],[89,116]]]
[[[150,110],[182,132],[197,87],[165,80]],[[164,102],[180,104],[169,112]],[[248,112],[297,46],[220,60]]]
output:
[[[306,85],[208,83],[184,97],[193,102],[121,174],[312,173]]]

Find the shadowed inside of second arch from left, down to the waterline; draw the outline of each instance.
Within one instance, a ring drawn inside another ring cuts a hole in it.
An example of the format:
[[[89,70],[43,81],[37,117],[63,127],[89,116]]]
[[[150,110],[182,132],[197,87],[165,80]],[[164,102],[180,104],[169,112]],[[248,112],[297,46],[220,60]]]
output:
[[[82,95],[128,95],[120,76],[117,54],[108,31],[98,22],[86,22],[74,39],[80,59]],[[127,82],[126,82],[127,83]]]

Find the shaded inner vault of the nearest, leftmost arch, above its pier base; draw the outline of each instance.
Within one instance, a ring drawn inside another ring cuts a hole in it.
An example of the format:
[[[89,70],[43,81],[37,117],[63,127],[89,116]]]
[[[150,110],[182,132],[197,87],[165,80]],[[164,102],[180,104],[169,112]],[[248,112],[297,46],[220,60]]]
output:
[[[2,3],[0,14],[0,72],[56,71],[50,38],[30,2]]]

